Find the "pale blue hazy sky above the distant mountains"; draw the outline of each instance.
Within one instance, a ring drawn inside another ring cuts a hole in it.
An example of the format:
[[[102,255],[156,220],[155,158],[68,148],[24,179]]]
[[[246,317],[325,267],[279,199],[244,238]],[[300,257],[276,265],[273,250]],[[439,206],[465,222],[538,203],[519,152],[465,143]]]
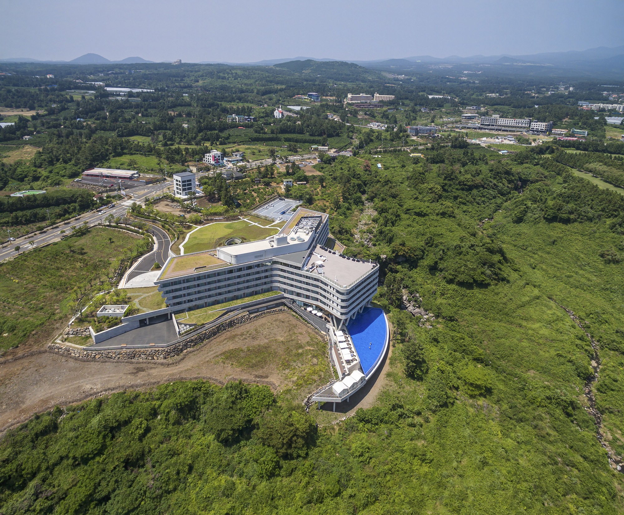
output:
[[[251,62],[624,44],[623,0],[0,0],[0,58]]]

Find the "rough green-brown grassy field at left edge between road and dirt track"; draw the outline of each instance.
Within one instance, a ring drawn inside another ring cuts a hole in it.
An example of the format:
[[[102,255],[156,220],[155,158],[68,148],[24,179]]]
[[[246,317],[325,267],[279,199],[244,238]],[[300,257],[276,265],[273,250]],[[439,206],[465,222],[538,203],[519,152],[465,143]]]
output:
[[[0,350],[51,339],[72,314],[72,289],[97,280],[112,259],[139,241],[98,228],[0,264]]]

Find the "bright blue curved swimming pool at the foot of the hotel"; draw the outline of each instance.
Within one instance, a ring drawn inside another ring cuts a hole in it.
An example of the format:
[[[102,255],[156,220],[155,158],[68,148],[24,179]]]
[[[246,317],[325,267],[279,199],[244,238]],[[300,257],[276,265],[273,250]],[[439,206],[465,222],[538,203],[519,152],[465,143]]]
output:
[[[388,325],[384,310],[368,307],[347,324],[347,329],[358,352],[364,375],[368,377],[386,350]]]

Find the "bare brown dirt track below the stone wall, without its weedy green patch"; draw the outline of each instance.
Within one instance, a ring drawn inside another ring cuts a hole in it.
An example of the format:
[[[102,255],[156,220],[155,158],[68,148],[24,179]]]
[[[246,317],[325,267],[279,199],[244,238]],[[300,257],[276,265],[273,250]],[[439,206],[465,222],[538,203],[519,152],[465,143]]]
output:
[[[90,362],[51,352],[0,362],[0,433],[55,405],[167,381],[208,379],[225,383],[241,379],[269,385],[275,391],[285,383],[285,376],[275,367],[243,370],[219,357],[228,350],[252,345],[263,345],[264,350],[273,347],[277,354],[283,347],[279,335],[295,335],[300,342],[318,339],[310,326],[288,313],[278,313],[223,332],[168,363]]]

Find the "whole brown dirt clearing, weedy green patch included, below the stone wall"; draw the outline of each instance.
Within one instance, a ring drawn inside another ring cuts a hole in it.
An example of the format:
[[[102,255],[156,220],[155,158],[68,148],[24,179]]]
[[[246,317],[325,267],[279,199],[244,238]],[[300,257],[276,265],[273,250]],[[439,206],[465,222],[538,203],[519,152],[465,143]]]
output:
[[[273,391],[297,387],[300,395],[324,384],[329,374],[319,367],[318,332],[288,312],[267,315],[227,330],[168,362],[92,362],[62,357],[46,350],[0,361],[0,433],[55,405],[68,405],[121,390],[149,388],[175,380],[206,379],[261,383]],[[237,349],[258,347],[248,359]],[[264,358],[262,358],[264,355]],[[276,367],[275,357],[280,360]],[[235,365],[238,364],[239,366]],[[321,377],[322,376],[322,377]],[[305,392],[303,390],[305,389]]]

